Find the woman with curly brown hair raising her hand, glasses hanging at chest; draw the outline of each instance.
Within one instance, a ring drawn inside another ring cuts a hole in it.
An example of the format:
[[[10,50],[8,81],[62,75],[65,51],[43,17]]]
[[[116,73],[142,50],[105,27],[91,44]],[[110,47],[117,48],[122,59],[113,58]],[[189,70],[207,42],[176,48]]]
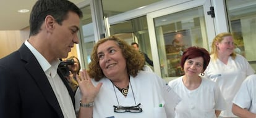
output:
[[[88,117],[173,117],[174,106],[166,101],[170,93],[179,97],[155,73],[143,71],[144,63],[143,55],[122,39],[96,42],[88,71],[80,74],[75,95],[80,109],[91,111]]]

